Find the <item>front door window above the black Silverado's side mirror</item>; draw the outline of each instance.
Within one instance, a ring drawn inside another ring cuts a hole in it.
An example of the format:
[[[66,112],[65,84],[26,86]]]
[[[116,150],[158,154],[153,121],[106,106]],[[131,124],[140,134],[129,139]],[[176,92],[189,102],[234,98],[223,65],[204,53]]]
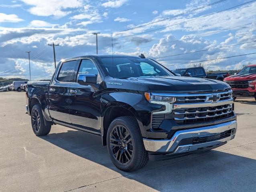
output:
[[[89,59],[83,59],[81,61],[78,74],[95,74],[97,76],[97,82],[101,81],[100,74],[97,67]]]

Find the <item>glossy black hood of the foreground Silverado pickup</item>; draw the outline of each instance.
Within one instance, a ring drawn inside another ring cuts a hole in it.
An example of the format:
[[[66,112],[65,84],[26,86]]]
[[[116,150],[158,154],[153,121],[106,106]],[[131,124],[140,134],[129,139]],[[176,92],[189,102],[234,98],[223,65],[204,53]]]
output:
[[[225,82],[182,76],[141,77],[135,81],[146,84],[155,92],[212,92],[230,89]]]

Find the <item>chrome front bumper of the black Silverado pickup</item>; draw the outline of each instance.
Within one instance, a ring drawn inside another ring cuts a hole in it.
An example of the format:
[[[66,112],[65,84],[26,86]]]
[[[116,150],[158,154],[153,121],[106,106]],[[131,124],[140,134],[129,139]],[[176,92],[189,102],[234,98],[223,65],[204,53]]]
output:
[[[233,120],[213,126],[177,131],[171,139],[152,140],[143,138],[145,149],[149,152],[182,154],[194,152],[205,148],[221,146],[235,137],[237,122]],[[223,137],[221,134],[228,132]],[[220,137],[218,137],[220,135]],[[192,142],[194,139],[205,142]],[[208,139],[207,139],[208,138]],[[215,139],[214,139],[215,138]],[[201,140],[200,140],[201,139]],[[191,141],[191,143],[189,143]]]

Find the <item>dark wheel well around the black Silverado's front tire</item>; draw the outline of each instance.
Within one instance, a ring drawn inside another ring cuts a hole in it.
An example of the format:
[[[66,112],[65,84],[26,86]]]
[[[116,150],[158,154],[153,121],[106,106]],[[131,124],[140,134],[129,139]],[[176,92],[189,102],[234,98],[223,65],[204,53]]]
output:
[[[114,107],[110,107],[105,115],[104,115],[104,133],[103,133],[103,138],[102,138],[102,144],[104,146],[107,145],[106,143],[106,138],[107,138],[107,132],[108,132],[108,127],[110,126],[110,123],[118,117],[122,117],[122,116],[134,116],[134,114],[128,110],[127,108],[124,107],[120,107],[120,106],[114,106]],[[135,116],[134,116],[135,118]]]

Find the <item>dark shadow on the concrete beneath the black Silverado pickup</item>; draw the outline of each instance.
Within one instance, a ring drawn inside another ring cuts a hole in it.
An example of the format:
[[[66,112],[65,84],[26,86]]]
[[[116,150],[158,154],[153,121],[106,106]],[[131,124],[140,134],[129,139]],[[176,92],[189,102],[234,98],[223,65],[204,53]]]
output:
[[[98,136],[68,130],[50,133],[41,138],[159,191],[254,191],[256,188],[256,160],[251,158],[211,150],[171,160],[149,162],[136,172],[123,172],[112,164],[107,148],[102,146]],[[120,182],[120,178],[116,181]],[[110,181],[103,182],[102,185],[108,185],[108,182]],[[81,186],[77,186],[79,187]],[[116,190],[122,188],[117,187]]]

